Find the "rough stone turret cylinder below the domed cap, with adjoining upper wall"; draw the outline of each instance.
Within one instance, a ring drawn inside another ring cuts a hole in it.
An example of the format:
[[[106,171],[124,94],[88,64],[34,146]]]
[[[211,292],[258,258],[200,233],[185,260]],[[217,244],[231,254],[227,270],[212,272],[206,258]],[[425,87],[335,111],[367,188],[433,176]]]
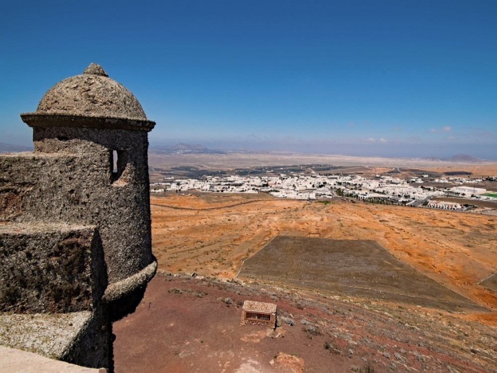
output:
[[[95,225],[111,264],[109,283],[152,263],[147,132],[65,127],[35,132],[48,136],[38,141],[39,152],[0,157],[0,221]],[[112,149],[117,173],[111,169]]]

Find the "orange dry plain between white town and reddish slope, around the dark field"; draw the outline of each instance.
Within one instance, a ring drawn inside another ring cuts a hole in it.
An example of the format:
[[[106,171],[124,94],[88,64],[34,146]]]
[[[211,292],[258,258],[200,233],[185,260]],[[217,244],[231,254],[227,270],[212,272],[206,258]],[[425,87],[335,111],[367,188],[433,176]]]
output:
[[[497,218],[266,194],[152,196],[159,268],[233,278],[276,235],[374,240],[431,279],[494,312],[464,317],[497,325],[495,292],[478,283],[496,271]],[[270,271],[270,268],[268,268]]]

